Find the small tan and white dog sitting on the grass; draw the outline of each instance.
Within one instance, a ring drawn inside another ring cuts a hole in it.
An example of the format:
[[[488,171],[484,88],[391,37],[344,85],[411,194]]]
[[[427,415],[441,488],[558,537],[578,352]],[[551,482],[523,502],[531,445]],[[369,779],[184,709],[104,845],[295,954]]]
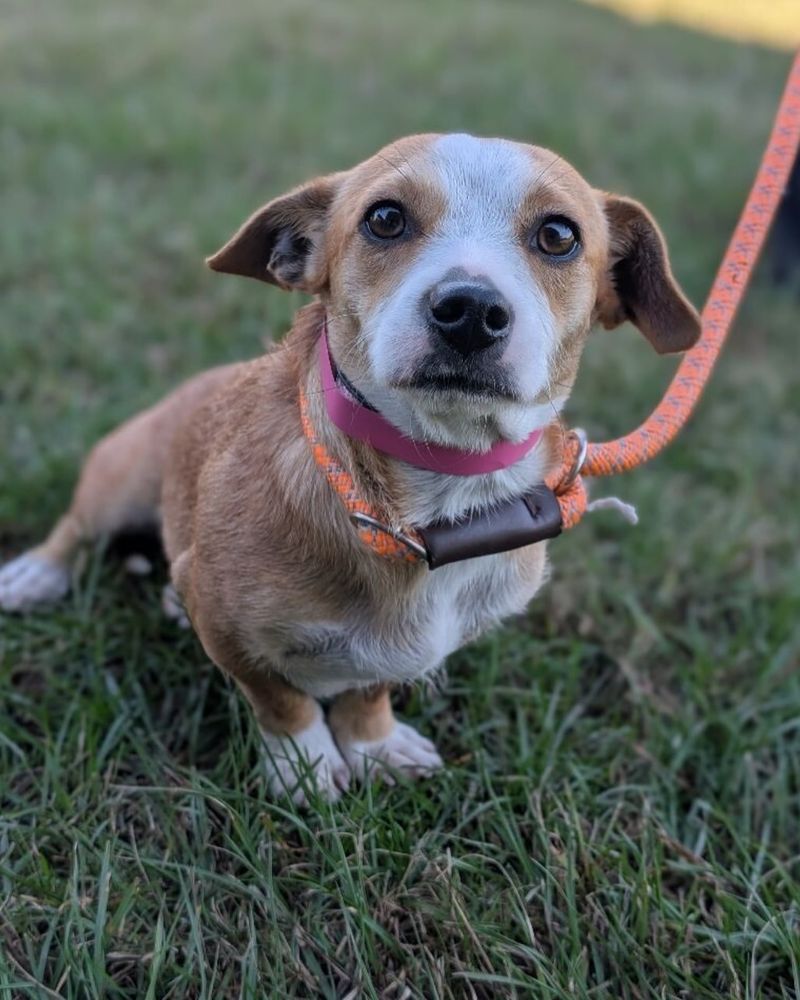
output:
[[[0,607],[63,596],[79,546],[155,523],[166,607],[250,702],[271,792],[428,774],[441,759],[390,687],[542,583],[545,543],[508,542],[508,512],[558,462],[592,323],[681,351],[697,313],[641,205],[545,149],[467,135],[401,139],[311,181],[209,264],[318,299],[276,349],[102,440],[47,541],[0,571]],[[488,541],[431,569],[428,548],[471,524]]]

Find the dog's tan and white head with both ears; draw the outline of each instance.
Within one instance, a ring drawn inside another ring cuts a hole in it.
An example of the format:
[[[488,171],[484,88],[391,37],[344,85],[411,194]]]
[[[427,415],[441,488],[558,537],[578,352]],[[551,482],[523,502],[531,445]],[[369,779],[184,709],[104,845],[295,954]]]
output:
[[[593,321],[631,320],[661,353],[700,332],[641,205],[501,139],[401,139],[270,202],[209,264],[319,294],[349,381],[461,448],[548,423]]]

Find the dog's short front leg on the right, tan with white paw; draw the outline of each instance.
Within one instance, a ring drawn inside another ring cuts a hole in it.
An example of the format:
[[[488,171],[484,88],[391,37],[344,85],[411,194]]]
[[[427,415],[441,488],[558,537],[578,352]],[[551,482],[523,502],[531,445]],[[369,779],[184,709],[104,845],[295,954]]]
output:
[[[393,784],[395,774],[427,777],[443,766],[433,743],[395,718],[386,684],[339,695],[329,721],[339,749],[361,781],[381,777]]]

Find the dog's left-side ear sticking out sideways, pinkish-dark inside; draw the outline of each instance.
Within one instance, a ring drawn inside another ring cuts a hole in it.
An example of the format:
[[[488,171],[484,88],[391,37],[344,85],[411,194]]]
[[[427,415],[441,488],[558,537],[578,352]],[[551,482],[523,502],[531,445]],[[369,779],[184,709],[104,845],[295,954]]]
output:
[[[321,291],[328,281],[322,243],[338,180],[320,177],[264,205],[206,263],[281,288]]]

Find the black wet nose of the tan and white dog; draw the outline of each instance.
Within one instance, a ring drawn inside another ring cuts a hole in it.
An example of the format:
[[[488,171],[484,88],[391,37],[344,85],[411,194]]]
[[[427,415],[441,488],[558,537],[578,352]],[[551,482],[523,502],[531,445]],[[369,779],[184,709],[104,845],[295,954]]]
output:
[[[431,292],[428,320],[451,347],[467,355],[508,335],[511,309],[492,285],[449,281]]]

